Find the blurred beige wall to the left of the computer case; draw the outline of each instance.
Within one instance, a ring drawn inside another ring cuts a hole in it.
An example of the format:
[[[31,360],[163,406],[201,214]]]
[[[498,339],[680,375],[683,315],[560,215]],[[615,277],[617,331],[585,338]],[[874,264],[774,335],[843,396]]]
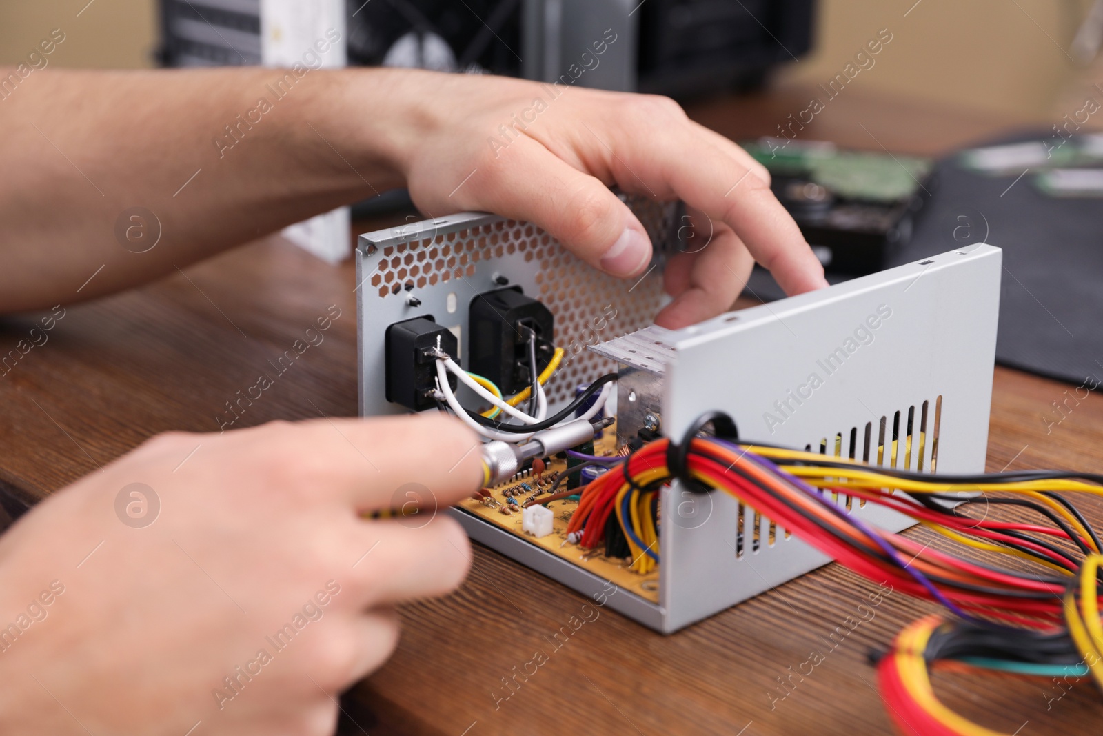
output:
[[[18,64],[51,30],[65,41],[50,63],[74,67],[152,66],[157,39],[153,0],[3,0],[0,64]],[[79,15],[77,14],[79,13]]]

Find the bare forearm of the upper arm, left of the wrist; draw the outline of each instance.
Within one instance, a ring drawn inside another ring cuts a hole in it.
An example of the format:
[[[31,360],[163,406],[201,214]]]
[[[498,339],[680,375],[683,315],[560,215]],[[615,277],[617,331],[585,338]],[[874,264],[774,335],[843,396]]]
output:
[[[0,102],[0,312],[116,291],[403,181],[408,132],[387,119],[401,73],[28,82]],[[133,207],[157,222],[130,220]]]

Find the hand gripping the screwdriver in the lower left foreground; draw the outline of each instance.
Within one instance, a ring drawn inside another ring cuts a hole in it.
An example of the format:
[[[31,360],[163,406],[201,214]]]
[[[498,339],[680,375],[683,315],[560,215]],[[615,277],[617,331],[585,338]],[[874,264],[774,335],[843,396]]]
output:
[[[0,537],[0,733],[331,734],[392,607],[463,579],[432,509],[479,457],[439,416],[274,423],[162,435],[60,491]]]

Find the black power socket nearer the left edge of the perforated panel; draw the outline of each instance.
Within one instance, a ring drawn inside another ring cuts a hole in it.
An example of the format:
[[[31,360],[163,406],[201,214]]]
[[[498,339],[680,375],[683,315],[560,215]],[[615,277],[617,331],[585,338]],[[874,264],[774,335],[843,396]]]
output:
[[[432,321],[432,316],[395,322],[384,335],[386,353],[386,397],[388,402],[420,412],[436,406],[432,397],[437,386],[436,350],[456,354],[459,343],[447,328]],[[456,376],[449,376],[451,387]]]

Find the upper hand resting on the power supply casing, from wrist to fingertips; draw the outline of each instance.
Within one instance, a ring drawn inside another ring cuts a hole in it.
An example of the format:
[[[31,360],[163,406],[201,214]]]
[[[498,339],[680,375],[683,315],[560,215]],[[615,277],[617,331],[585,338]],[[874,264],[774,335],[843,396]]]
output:
[[[666,268],[677,328],[727,309],[752,259],[788,294],[823,286],[823,267],[770,191],[770,174],[666,97],[517,79],[401,73],[414,124],[395,147],[424,212],[484,210],[544,227],[588,264],[621,277],[651,260],[643,226],[608,188],[682,199],[707,247]]]

